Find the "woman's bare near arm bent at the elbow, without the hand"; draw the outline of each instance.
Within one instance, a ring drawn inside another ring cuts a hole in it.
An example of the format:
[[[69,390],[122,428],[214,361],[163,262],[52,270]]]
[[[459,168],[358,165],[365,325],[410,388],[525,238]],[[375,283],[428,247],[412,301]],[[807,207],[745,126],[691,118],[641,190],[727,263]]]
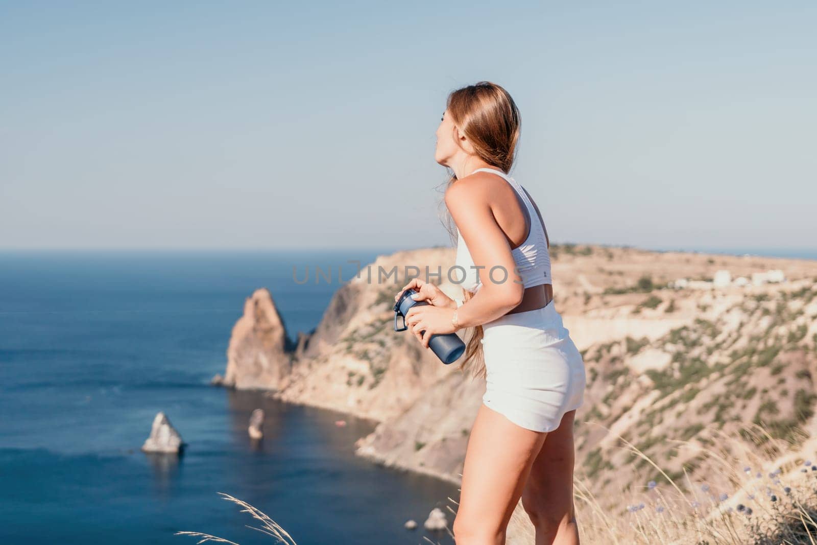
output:
[[[458,308],[461,328],[485,324],[522,302],[525,287],[505,233],[493,217],[490,183],[476,178],[458,181],[445,192],[445,205],[471,252],[482,286]],[[493,273],[491,270],[493,269]]]

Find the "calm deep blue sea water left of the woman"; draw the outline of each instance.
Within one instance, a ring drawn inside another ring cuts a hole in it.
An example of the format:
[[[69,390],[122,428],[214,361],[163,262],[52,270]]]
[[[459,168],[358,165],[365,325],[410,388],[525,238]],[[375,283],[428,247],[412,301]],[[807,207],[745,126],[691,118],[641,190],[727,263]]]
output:
[[[266,511],[299,545],[453,543],[422,528],[453,485],[355,457],[371,422],[208,386],[255,288],[294,338],[338,288],[298,285],[292,265],[377,252],[0,252],[0,543],[195,543],[194,530],[275,543],[225,492]],[[247,436],[263,407],[265,439]],[[189,444],[139,448],[158,411]],[[334,421],[346,418],[346,427]],[[451,516],[449,516],[450,522]]]

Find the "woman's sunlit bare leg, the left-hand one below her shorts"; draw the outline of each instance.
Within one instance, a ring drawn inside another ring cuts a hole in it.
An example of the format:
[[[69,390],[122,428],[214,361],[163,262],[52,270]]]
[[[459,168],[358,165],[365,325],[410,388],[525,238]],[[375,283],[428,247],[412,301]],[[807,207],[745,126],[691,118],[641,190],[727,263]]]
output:
[[[508,520],[545,436],[480,405],[462,468],[453,524],[457,545],[504,545]]]

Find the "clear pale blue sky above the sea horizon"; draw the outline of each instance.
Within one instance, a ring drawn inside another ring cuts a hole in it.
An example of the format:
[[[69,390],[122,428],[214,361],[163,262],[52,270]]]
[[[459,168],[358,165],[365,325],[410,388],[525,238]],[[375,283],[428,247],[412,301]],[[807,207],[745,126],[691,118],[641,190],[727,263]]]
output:
[[[2,2],[0,248],[447,244],[483,79],[553,241],[815,248],[817,4],[578,3]]]

